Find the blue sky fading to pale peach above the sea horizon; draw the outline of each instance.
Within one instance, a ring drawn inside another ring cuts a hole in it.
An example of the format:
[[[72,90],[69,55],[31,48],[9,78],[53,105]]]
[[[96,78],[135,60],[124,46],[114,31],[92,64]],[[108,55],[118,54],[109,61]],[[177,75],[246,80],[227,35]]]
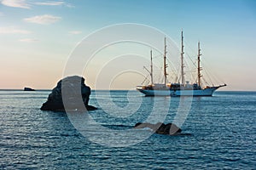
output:
[[[256,90],[254,0],[0,0],[0,89],[54,88],[65,76],[79,42],[124,23],[161,31],[177,47],[183,30],[185,53],[191,52],[188,60],[190,56],[196,59],[197,42],[201,42],[202,65],[211,72],[203,76],[212,77],[211,83],[228,84],[223,90]],[[125,32],[129,31],[121,33]],[[135,89],[148,75],[143,66],[149,69],[151,48],[131,42],[103,47],[79,76],[91,88]],[[154,58],[160,53],[154,51]],[[171,65],[180,64],[170,60],[172,77]],[[156,65],[161,62],[154,61],[155,80],[160,75]],[[192,69],[185,69],[188,76]]]

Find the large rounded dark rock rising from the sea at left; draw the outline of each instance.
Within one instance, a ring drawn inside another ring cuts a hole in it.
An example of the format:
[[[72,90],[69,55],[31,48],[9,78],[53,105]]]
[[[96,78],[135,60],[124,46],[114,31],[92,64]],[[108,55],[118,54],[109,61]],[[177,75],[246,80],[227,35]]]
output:
[[[42,111],[96,110],[89,105],[90,87],[84,84],[84,77],[66,77],[57,83],[49,94],[47,101],[42,105]],[[65,104],[65,107],[63,105]]]

